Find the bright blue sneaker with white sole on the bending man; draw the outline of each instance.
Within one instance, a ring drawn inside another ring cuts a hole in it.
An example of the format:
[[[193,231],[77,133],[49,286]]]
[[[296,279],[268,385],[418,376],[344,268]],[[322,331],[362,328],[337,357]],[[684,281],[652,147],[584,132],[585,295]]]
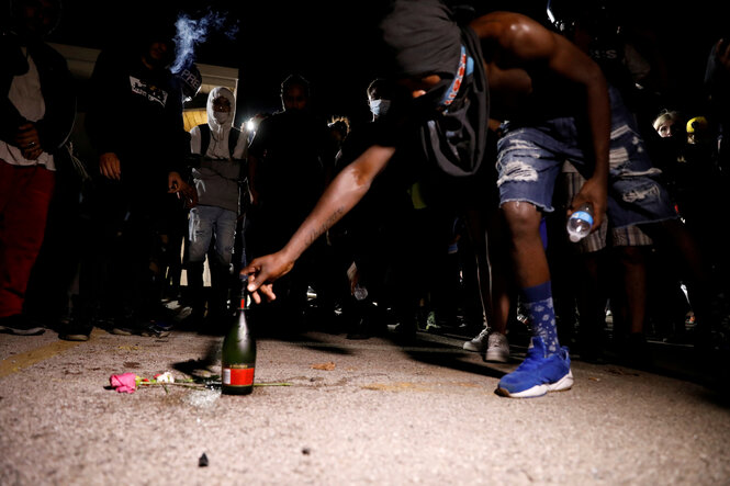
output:
[[[546,358],[542,338],[534,337],[527,358],[517,370],[499,380],[496,394],[510,398],[532,398],[548,392],[562,392],[573,386],[568,348]]]

